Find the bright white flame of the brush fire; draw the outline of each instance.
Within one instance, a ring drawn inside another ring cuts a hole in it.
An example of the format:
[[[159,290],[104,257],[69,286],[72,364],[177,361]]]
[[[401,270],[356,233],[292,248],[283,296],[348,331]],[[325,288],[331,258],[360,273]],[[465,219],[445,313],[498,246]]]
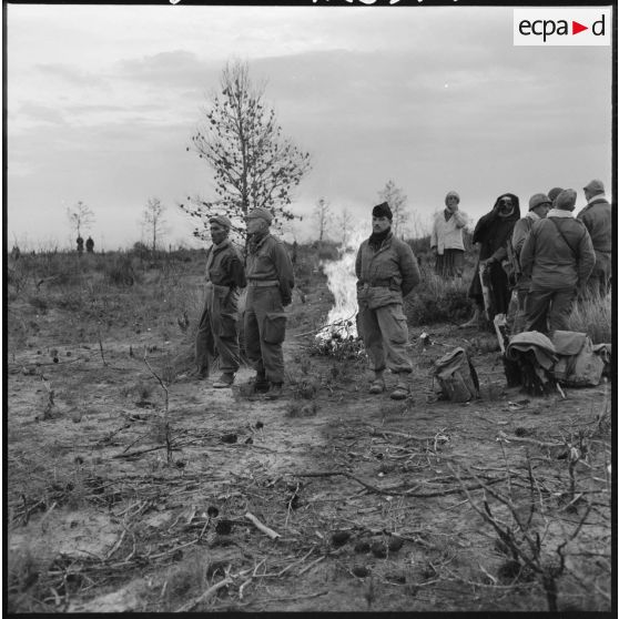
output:
[[[317,339],[356,339],[358,337],[355,262],[358,247],[365,237],[367,237],[365,231],[354,231],[346,246],[339,250],[339,260],[321,262],[335,304],[328,313],[324,327],[317,333]]]

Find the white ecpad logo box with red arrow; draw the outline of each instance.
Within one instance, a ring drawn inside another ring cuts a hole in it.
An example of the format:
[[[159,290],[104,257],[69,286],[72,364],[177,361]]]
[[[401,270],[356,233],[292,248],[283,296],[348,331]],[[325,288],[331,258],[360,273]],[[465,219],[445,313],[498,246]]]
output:
[[[610,8],[514,9],[515,45],[610,45]]]

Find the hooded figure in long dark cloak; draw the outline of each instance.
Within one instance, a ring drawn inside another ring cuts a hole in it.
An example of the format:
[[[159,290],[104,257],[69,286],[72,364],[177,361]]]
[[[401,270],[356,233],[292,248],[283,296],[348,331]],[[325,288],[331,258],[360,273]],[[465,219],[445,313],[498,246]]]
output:
[[[490,288],[488,317],[491,321],[496,314],[507,314],[510,291],[503,262],[507,260],[507,243],[519,219],[518,196],[513,193],[503,193],[497,197],[493,210],[477,222],[473,242],[479,243],[479,262],[468,290],[468,296],[475,302],[475,316],[463,326],[476,325],[484,310],[484,295],[479,278],[479,265],[481,264],[488,270]]]

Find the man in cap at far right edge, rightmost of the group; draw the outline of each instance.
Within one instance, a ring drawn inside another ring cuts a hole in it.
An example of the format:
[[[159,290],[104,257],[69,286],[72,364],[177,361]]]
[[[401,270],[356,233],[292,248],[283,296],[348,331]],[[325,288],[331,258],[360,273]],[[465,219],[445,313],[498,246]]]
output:
[[[578,213],[596,252],[596,266],[588,283],[588,292],[606,296],[612,276],[612,217],[610,204],[603,192],[603,183],[597,179],[582,187],[587,206]]]

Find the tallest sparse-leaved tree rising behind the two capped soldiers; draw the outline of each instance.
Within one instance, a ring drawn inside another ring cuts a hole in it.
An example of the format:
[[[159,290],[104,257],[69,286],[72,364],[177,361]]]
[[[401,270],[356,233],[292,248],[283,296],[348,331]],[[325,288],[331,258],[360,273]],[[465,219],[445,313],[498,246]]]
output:
[[[229,62],[220,90],[202,110],[202,121],[192,138],[193,150],[214,173],[212,200],[187,199],[179,206],[197,217],[205,237],[213,214],[225,214],[243,229],[248,210],[267,209],[276,223],[292,220],[292,192],[311,169],[310,153],[283,135],[275,111],[264,101],[265,85],[250,78],[246,62]]]

